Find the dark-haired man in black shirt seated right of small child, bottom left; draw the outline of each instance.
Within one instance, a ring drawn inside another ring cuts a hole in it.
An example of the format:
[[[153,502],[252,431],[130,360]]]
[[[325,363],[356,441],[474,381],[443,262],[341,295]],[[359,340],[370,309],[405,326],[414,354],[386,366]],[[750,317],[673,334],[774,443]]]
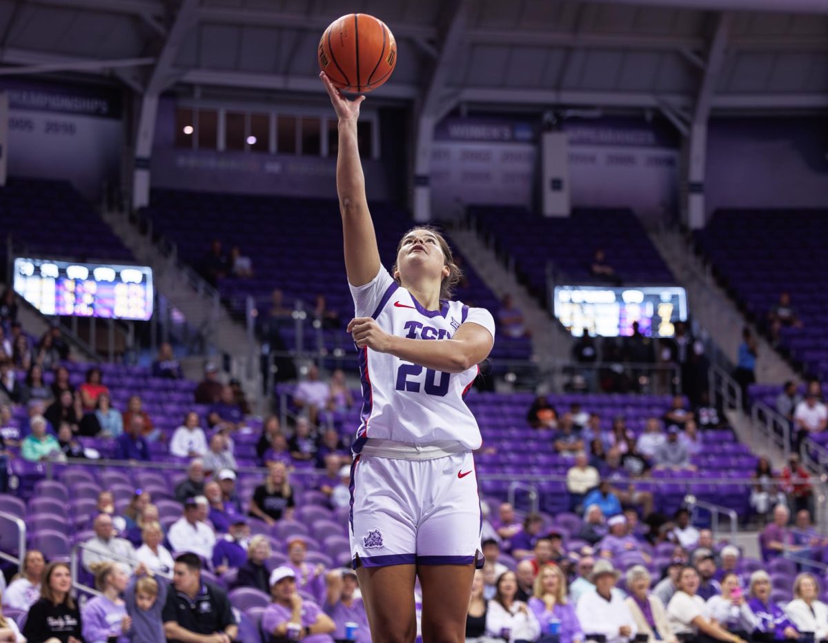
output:
[[[222,635],[227,641],[235,640],[238,625],[227,594],[201,578],[199,557],[181,554],[173,569],[172,586],[161,612],[167,641],[209,641],[208,637],[224,641]]]

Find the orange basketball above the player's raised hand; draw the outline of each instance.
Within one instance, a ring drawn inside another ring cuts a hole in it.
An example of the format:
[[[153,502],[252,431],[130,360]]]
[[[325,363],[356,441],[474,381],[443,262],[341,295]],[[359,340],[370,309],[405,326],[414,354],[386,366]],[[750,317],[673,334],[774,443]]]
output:
[[[319,66],[335,87],[365,94],[391,77],[397,41],[382,20],[349,13],[330,23],[319,41]]]

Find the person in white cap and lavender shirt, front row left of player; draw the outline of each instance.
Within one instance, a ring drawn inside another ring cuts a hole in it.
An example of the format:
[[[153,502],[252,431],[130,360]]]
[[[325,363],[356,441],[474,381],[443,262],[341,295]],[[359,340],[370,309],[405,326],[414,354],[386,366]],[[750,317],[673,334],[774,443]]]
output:
[[[296,592],[296,578],[289,567],[277,567],[270,575],[273,602],[262,614],[262,632],[267,643],[299,640],[333,643],[334,621],[314,602]]]

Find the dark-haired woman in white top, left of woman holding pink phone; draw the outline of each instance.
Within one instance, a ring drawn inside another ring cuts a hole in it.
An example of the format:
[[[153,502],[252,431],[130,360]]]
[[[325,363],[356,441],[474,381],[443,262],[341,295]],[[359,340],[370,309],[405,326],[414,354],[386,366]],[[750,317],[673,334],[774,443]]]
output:
[[[731,634],[705,616],[705,601],[696,595],[696,590],[699,588],[699,573],[696,569],[690,566],[681,568],[676,588],[676,593],[667,605],[667,620],[672,633],[680,641],[744,643],[744,639]]]

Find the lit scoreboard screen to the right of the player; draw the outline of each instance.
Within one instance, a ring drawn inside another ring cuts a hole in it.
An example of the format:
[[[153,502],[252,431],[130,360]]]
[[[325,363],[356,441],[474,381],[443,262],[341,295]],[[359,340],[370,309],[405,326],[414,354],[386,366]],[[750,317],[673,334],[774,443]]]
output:
[[[633,322],[647,337],[672,337],[687,319],[687,295],[678,286],[556,286],[555,316],[575,337],[628,337]]]

